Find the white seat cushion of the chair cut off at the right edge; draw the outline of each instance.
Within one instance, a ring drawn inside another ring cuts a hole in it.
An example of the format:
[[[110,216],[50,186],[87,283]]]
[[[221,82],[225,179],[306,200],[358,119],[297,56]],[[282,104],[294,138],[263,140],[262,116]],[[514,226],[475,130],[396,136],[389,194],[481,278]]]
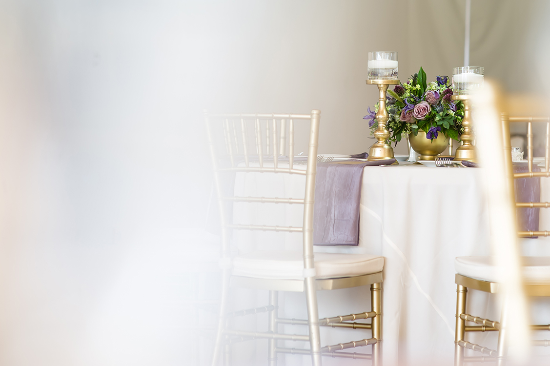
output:
[[[454,269],[459,275],[488,282],[499,282],[494,256],[459,256]],[[538,285],[550,283],[550,256],[522,257],[523,275],[526,283]]]

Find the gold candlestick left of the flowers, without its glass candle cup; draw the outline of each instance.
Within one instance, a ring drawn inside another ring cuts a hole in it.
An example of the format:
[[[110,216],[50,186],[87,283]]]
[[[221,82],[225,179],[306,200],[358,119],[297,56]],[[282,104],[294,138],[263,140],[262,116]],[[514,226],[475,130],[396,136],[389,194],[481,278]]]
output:
[[[377,85],[378,91],[380,92],[380,96],[378,98],[378,112],[376,112],[378,128],[374,132],[375,138],[378,141],[371,146],[371,149],[368,152],[367,161],[393,159],[393,148],[392,145],[388,143],[389,131],[386,128],[386,123],[389,119],[388,111],[386,111],[386,91],[388,90],[389,85],[398,85],[399,80],[369,79],[366,81],[367,84]],[[395,164],[397,164],[397,161],[395,161]]]

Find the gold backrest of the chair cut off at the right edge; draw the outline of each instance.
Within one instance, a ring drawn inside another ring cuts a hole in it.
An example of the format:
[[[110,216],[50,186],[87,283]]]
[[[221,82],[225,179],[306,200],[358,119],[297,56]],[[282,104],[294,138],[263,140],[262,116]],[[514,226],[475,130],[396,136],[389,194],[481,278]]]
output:
[[[518,209],[522,209],[523,212],[518,212],[518,218],[519,220],[522,219],[521,216],[531,216],[535,217],[537,222],[535,223],[536,228],[538,229],[538,211],[536,211],[536,215],[533,213],[535,210],[541,209],[541,208],[549,208],[550,203],[548,202],[540,202],[540,199],[537,198],[537,195],[534,194],[535,190],[540,195],[540,181],[533,182],[533,179],[540,179],[542,177],[548,178],[550,177],[550,117],[508,117],[507,115],[503,115],[503,129],[505,131],[504,133],[504,159],[507,162],[507,166],[509,168],[509,173],[513,175],[515,182],[516,182],[516,207]],[[527,150],[527,165],[524,167],[516,167],[514,169],[512,157],[511,157],[511,136],[510,136],[510,123],[526,123],[527,124],[527,133],[526,133],[526,150]],[[542,125],[543,128],[546,129],[546,135],[544,138],[544,171],[541,171],[541,169],[538,167],[538,163],[541,163],[542,161],[540,159],[535,159],[533,156],[533,151],[535,150],[534,144],[533,144],[533,123],[544,123]],[[521,197],[518,193],[518,184],[517,182],[522,179],[522,186],[524,186],[524,190],[526,191],[526,195],[524,194],[523,197]],[[526,185],[530,185],[531,187],[525,188]],[[537,189],[538,187],[538,189]],[[529,212],[528,210],[531,210]],[[520,237],[538,237],[538,236],[544,236],[547,237],[550,235],[550,232],[548,231],[541,231],[541,230],[530,230],[528,225],[529,223],[524,222],[524,227],[522,225],[519,226],[518,236]]]

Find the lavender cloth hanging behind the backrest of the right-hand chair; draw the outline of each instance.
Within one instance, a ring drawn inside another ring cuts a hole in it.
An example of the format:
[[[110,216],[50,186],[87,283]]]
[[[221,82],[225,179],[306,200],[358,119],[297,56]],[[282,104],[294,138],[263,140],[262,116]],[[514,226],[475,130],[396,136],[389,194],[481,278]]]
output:
[[[514,163],[514,173],[529,171],[527,163]],[[541,168],[533,164],[533,172],[540,172]],[[540,202],[541,178],[514,179],[516,202]],[[538,231],[540,209],[516,209],[519,231]]]

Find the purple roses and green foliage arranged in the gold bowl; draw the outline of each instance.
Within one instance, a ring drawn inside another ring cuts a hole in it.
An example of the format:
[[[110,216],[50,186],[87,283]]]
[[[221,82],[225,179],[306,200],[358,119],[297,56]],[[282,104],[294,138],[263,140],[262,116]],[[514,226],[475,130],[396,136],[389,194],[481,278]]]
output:
[[[437,81],[427,83],[426,73],[420,68],[417,74],[411,76],[406,84],[395,85],[387,91],[386,109],[389,114],[387,129],[390,132],[389,141],[397,144],[401,136],[419,131],[426,133],[426,138],[433,141],[439,134],[446,138],[459,141],[463,130],[464,106],[460,101],[451,100],[453,90],[448,77],[438,76]],[[370,119],[368,125],[371,132],[378,128],[376,112],[368,107],[368,114],[363,117]]]

